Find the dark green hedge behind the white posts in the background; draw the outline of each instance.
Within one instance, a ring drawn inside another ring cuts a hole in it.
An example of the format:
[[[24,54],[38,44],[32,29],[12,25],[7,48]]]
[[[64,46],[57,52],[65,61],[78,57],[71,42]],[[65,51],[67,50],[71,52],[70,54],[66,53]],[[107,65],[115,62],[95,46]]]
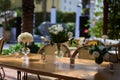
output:
[[[75,13],[63,13],[60,11],[57,11],[56,20],[57,23],[67,23],[67,22],[75,22]],[[50,21],[50,13],[47,13],[47,19],[46,21]],[[35,27],[38,27],[43,22],[43,13],[35,13]]]

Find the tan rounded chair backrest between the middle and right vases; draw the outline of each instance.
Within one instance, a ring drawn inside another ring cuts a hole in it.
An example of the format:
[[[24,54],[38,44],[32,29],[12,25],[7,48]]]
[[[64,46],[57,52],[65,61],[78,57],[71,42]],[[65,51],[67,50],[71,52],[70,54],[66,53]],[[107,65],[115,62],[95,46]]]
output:
[[[77,48],[72,54],[72,58],[90,59],[90,60],[93,59],[92,57],[90,57],[88,48],[89,48],[88,46],[82,46]]]

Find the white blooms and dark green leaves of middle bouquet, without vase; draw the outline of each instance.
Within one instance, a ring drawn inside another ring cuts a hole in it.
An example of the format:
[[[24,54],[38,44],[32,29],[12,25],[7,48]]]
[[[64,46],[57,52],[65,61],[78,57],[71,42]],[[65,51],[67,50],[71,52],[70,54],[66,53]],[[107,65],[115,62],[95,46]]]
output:
[[[62,24],[56,24],[48,28],[50,38],[52,42],[63,43],[68,41],[68,31],[65,29]]]

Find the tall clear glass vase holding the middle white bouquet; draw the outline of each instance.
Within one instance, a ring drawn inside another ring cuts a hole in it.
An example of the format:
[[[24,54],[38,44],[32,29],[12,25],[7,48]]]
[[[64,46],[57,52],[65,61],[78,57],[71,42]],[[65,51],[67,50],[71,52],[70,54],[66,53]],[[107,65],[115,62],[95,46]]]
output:
[[[63,57],[63,51],[61,50],[62,43],[56,43],[57,51],[55,51],[56,63],[61,62],[61,58]]]

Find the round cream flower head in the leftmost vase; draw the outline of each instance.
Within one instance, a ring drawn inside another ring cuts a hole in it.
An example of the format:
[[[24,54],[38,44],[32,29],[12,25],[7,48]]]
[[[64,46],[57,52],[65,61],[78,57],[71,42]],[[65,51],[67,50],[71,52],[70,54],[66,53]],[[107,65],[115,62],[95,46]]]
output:
[[[29,43],[33,42],[33,36],[31,33],[24,32],[18,36],[18,42]]]

